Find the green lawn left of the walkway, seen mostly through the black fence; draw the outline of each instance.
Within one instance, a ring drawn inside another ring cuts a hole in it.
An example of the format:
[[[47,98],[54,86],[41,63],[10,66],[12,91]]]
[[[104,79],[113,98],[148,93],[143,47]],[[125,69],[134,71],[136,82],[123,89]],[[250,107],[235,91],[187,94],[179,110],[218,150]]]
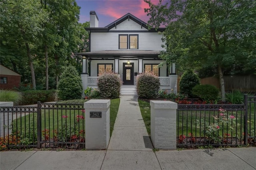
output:
[[[83,103],[84,100],[79,100],[78,103]],[[61,103],[74,103],[74,101],[62,101]],[[118,113],[120,99],[111,99],[110,101],[110,136],[112,135],[112,131],[114,128],[114,123],[116,121],[116,115]],[[20,113],[18,113],[18,116]],[[65,109],[41,109],[41,123],[42,129],[41,132],[45,129],[49,130],[49,136],[53,137],[54,130],[56,132],[57,129],[60,129],[62,126],[70,125],[70,127],[74,127],[76,125],[76,134],[79,133],[80,130],[84,130],[85,124],[84,119],[79,119],[76,117],[77,115],[85,117],[85,114],[81,109],[76,110],[65,110]],[[63,118],[62,116],[65,116]],[[67,116],[67,117],[66,117]],[[21,126],[22,125],[22,126]],[[17,129],[16,129],[17,127]],[[13,121],[13,132],[16,130],[19,132],[29,133],[32,132],[33,128],[37,127],[37,113],[26,114],[26,116],[22,116]],[[35,131],[35,135],[36,135]],[[42,132],[43,135],[43,132]]]

